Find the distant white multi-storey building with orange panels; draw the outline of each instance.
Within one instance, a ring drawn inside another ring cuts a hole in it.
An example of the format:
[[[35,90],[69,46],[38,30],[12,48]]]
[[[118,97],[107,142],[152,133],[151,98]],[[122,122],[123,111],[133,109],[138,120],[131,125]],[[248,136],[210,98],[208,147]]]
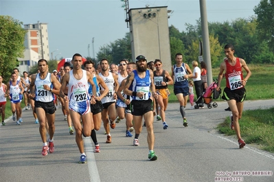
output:
[[[18,60],[20,73],[29,71],[30,66],[35,66],[40,59],[49,60],[49,40],[47,33],[47,23],[24,25],[25,34],[25,51],[24,57],[19,57]]]

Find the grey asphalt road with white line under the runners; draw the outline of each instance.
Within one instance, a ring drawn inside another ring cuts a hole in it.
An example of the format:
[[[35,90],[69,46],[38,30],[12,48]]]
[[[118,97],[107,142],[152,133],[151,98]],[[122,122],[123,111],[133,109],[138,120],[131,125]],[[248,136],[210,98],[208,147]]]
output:
[[[179,104],[169,104],[168,129],[163,130],[161,121],[154,122],[157,161],[148,161],[146,128],[140,134],[140,146],[133,146],[133,138],[125,137],[125,120],[111,130],[111,144],[105,143],[102,126],[97,131],[100,153],[93,153],[91,138],[84,139],[87,164],[78,164],[75,135],[69,135],[60,109],[55,151],[47,156],[41,155],[32,112],[24,110],[22,125],[10,119],[0,127],[0,181],[274,181],[273,153],[249,144],[239,149],[236,138],[214,129],[230,114],[224,111],[226,102],[217,103],[212,109],[187,109],[189,127],[182,125]],[[244,103],[244,109],[273,106],[274,99]]]

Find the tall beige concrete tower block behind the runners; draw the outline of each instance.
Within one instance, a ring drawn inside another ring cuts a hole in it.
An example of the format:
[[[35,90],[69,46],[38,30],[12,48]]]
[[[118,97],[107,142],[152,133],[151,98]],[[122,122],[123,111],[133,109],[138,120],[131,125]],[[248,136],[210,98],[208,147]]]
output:
[[[130,9],[128,14],[133,60],[138,55],[146,56],[148,62],[160,59],[163,62],[163,69],[170,72],[170,37],[167,8],[167,6],[135,8]],[[149,17],[150,15],[151,17]]]

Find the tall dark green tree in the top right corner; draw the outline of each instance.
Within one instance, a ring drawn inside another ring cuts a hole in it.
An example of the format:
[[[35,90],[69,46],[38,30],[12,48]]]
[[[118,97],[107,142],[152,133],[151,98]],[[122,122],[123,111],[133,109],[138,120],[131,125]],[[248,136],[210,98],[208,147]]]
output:
[[[254,8],[257,14],[257,29],[260,38],[269,42],[269,47],[274,52],[274,0],[261,0]]]

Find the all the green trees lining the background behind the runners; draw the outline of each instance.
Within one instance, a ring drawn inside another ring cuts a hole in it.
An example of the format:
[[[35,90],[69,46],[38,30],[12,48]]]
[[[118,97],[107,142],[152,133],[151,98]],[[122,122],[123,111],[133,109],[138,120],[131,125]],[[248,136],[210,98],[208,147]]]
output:
[[[274,63],[274,0],[262,0],[253,9],[256,16],[237,18],[234,21],[208,23],[209,44],[212,67],[222,62],[223,47],[233,44],[238,57],[248,64]],[[170,60],[174,64],[174,55],[182,53],[184,61],[190,64],[198,59],[199,41],[202,40],[201,19],[196,25],[186,24],[185,31],[179,31],[174,25],[170,31]],[[9,78],[13,68],[18,66],[17,57],[23,57],[25,30],[23,23],[11,16],[0,16],[0,75]],[[86,57],[95,62],[108,59],[117,64],[121,59],[131,60],[130,34],[100,47],[96,57]],[[53,64],[52,66],[54,66]],[[35,73],[36,68],[31,68]]]

